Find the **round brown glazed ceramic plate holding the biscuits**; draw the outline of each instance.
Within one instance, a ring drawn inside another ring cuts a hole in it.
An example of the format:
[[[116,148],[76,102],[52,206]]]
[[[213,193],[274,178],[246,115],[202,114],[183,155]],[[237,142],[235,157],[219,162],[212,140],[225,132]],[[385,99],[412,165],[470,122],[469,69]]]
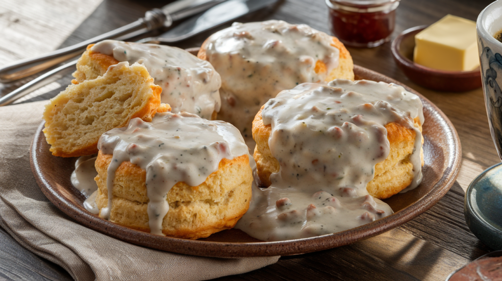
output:
[[[425,212],[446,194],[457,177],[461,148],[455,128],[430,101],[405,85],[374,71],[355,66],[356,79],[396,83],[420,96],[424,104],[424,179],[419,187],[385,200],[394,214],[346,231],[297,240],[263,242],[238,229],[224,230],[207,238],[187,240],[154,235],[109,222],[87,212],[84,196],[70,182],[76,158],[52,156],[42,129],[31,148],[31,167],[42,192],[63,212],[84,226],[133,244],[155,249],[214,257],[292,255],[346,245],[397,227]]]

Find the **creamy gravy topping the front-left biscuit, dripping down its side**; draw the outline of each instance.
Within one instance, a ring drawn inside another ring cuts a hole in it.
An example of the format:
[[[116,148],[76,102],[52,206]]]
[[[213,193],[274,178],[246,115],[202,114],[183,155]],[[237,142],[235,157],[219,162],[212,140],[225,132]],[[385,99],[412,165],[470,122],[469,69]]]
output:
[[[101,135],[98,148],[113,154],[106,181],[108,205],[100,216],[109,219],[115,171],[130,161],[146,170],[150,232],[159,235],[164,235],[162,221],[169,211],[167,193],[176,183],[197,186],[218,169],[221,159],[248,154],[235,127],[186,112],[157,113],[151,123],[134,118],[128,127]]]

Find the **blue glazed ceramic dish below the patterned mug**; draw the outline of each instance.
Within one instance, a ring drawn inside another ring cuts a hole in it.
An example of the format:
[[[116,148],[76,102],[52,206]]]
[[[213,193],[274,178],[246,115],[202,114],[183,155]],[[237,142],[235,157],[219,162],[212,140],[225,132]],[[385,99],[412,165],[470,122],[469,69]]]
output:
[[[465,221],[483,243],[502,249],[502,163],[489,167],[467,188]]]

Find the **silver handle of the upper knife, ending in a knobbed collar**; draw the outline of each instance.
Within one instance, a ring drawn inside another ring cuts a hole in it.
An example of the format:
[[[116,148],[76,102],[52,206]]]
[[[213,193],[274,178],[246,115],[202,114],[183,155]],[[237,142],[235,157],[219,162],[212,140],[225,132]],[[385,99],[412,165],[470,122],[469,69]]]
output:
[[[172,25],[172,23],[173,19],[170,15],[164,14],[164,12],[159,9],[153,9],[145,13],[144,18],[140,18],[136,22],[129,25],[96,36],[84,42],[44,54],[42,56],[16,61],[12,64],[6,65],[0,68],[0,82],[12,82],[41,72],[54,65],[82,54],[82,52],[85,51],[85,48],[89,44],[96,43],[105,39],[116,38],[122,35],[125,35],[126,37],[122,37],[121,39],[126,40],[128,39],[129,34],[138,36],[138,32],[140,31],[140,34],[143,34],[161,27],[169,27]],[[129,36],[129,38],[131,38],[131,36]]]

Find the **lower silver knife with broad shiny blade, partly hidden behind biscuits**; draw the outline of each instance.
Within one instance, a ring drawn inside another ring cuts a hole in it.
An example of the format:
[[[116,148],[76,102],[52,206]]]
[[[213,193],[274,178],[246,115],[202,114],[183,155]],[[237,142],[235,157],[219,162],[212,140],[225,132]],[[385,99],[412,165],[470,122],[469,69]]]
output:
[[[194,0],[191,0],[194,1]],[[200,1],[200,0],[199,0]],[[227,2],[218,4],[206,12],[195,16],[194,18],[181,23],[170,31],[164,33],[159,38],[146,38],[138,42],[142,43],[175,43],[188,39],[194,35],[210,30],[214,27],[220,26],[224,23],[232,21],[236,18],[242,17],[247,13],[258,11],[272,5],[279,0],[229,0]],[[186,32],[186,34],[183,34]],[[40,77],[30,81],[22,87],[12,91],[11,93],[0,98],[0,106],[8,105],[15,100],[26,96],[27,94],[35,91],[36,89],[47,84],[49,78],[64,71],[70,67],[74,67],[77,61],[69,62],[54,70],[51,70]]]

